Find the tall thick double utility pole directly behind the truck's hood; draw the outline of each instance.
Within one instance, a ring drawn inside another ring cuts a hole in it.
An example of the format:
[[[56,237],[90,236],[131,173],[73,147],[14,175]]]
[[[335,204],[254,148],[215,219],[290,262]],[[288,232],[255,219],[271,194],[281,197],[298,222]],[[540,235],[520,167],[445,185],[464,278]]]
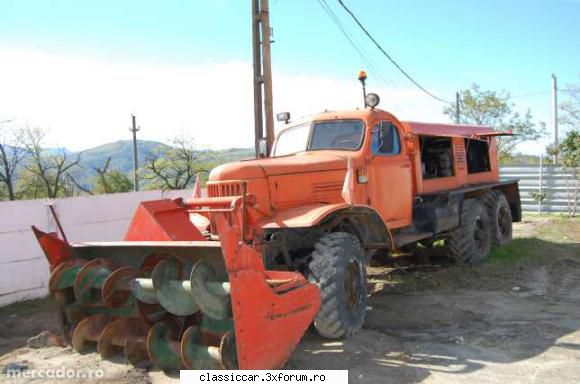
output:
[[[274,143],[268,0],[252,0],[252,48],[254,58],[254,145],[256,157],[259,157],[262,139],[266,139],[268,155]],[[266,121],[265,135],[264,120]]]

